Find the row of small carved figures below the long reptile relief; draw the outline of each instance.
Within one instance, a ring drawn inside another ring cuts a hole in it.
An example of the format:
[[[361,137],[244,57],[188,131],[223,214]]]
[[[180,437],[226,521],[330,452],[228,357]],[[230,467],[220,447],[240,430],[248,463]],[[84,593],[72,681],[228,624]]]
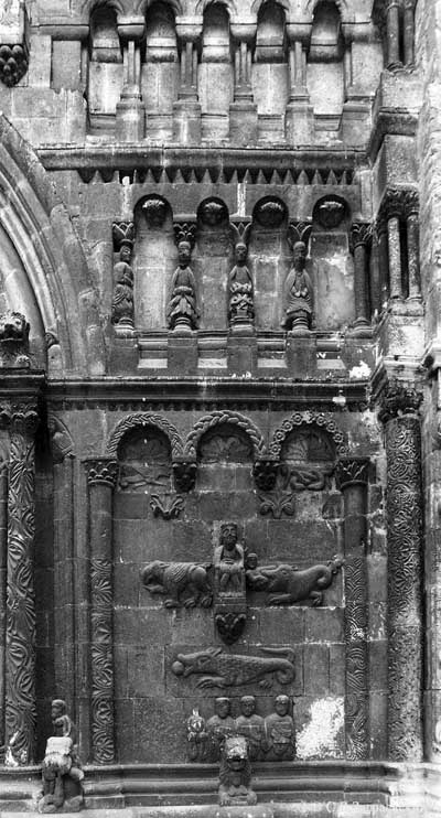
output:
[[[228,736],[243,735],[250,761],[290,761],[295,755],[295,729],[289,696],[277,696],[275,710],[267,717],[256,712],[256,698],[243,696],[240,713],[232,715],[232,701],[215,699],[215,713],[207,721],[197,708],[187,719],[189,758],[193,762],[217,762]]]

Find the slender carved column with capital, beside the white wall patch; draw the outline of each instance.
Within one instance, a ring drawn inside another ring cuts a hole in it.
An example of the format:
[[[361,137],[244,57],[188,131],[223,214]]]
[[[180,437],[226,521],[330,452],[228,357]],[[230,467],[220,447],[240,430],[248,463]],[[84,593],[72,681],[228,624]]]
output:
[[[368,758],[369,754],[365,553],[368,461],[342,459],[335,474],[344,498],[346,755],[358,761]]]

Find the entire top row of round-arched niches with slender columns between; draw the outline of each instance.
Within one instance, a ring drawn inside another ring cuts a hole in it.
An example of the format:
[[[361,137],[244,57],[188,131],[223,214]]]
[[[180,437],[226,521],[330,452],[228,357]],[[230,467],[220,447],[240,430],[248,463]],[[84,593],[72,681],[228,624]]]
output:
[[[153,2],[128,41],[110,7],[93,12],[83,69],[92,132],[117,123],[117,138],[131,140],[305,143],[315,131],[337,136],[352,98],[358,111],[362,99],[369,107],[383,66],[379,34],[367,20],[354,36],[331,0],[302,24],[273,0],[255,22],[236,23],[216,2],[191,20],[176,24],[171,6]],[[58,85],[56,64],[53,76]]]

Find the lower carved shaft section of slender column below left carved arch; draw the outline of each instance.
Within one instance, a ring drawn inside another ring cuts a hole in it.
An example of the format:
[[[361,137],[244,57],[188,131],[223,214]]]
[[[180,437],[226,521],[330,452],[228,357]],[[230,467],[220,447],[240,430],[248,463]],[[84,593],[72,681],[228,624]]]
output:
[[[92,733],[98,764],[109,764],[115,758],[111,573],[110,560],[90,560]]]

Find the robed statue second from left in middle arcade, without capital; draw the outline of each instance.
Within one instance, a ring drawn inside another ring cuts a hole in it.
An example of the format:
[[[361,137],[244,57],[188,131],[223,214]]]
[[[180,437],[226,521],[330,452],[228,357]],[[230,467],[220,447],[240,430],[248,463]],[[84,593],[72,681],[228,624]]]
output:
[[[179,267],[171,282],[171,294],[166,310],[170,330],[191,332],[197,330],[200,312],[196,299],[196,281],[190,267],[192,246],[180,240],[178,245]]]

